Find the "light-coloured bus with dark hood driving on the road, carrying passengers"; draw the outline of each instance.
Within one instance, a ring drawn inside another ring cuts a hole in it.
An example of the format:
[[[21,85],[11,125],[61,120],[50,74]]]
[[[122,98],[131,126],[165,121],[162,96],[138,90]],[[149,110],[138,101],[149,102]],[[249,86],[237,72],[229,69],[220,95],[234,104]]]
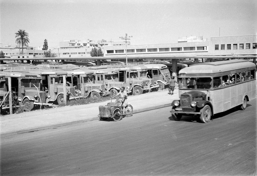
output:
[[[255,64],[228,60],[194,64],[179,71],[180,100],[172,102],[172,117],[198,115],[207,123],[211,116],[233,107],[244,110],[256,98]]]

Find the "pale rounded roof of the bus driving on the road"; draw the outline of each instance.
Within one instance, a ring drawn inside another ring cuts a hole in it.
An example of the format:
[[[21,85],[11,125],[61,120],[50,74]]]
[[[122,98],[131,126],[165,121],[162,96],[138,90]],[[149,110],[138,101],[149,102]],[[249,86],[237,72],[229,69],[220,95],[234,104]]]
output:
[[[193,64],[190,67],[181,69],[178,74],[213,74],[225,71],[232,71],[242,68],[255,69],[255,64],[243,59],[233,59],[228,61],[204,62]]]

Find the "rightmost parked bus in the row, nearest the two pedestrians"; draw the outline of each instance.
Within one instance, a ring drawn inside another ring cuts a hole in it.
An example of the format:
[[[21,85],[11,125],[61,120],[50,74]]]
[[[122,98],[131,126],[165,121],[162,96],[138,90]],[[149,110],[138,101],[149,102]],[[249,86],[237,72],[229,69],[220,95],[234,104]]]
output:
[[[169,85],[169,68],[164,64],[145,64],[147,67],[147,75],[149,78],[154,79],[157,82],[159,89],[164,89],[165,86]]]

